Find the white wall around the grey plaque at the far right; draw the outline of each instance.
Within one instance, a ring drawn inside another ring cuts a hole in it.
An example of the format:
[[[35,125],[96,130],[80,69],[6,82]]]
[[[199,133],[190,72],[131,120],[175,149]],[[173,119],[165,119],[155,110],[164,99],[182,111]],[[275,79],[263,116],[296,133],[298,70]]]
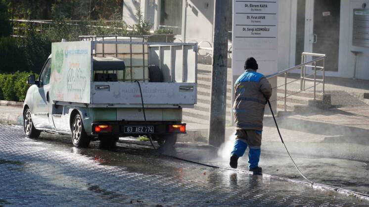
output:
[[[341,0],[338,60],[338,71],[341,77],[353,77],[355,56],[351,50],[356,50],[363,52],[358,55],[356,77],[369,79],[369,47],[352,46],[353,10],[362,8],[363,3],[367,3],[369,8],[369,0]]]

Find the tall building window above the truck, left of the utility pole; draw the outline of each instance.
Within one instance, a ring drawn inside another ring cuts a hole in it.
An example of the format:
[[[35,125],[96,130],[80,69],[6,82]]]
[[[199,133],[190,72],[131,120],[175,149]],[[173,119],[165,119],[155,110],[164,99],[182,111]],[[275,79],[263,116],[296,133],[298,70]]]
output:
[[[173,34],[181,35],[182,0],[161,0],[159,27],[171,30]]]

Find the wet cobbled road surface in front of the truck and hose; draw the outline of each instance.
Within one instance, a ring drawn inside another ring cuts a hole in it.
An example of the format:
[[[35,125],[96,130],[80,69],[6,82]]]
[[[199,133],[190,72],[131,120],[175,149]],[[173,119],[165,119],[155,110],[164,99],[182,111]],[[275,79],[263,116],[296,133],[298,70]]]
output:
[[[166,153],[199,161],[211,157],[209,147],[185,144]],[[180,161],[138,141],[121,140],[110,150],[99,142],[77,149],[68,136],[30,139],[21,127],[8,125],[0,125],[0,179],[0,206],[369,205],[332,190]]]

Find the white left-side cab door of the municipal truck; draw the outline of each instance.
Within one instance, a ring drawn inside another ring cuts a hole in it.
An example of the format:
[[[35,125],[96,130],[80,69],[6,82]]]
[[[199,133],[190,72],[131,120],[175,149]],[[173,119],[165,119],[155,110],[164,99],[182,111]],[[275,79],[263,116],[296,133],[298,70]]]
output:
[[[46,61],[46,64],[41,71],[39,77],[39,90],[33,94],[33,122],[36,128],[53,129],[49,122],[49,105],[50,105],[50,74],[51,74],[51,59]]]

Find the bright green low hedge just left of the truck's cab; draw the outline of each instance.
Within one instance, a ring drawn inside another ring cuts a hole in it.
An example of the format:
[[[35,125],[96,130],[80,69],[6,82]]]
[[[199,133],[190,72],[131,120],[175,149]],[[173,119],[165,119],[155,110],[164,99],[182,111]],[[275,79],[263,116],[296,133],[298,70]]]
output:
[[[13,74],[0,74],[0,100],[23,102],[26,98],[28,75],[32,72],[19,72]]]

